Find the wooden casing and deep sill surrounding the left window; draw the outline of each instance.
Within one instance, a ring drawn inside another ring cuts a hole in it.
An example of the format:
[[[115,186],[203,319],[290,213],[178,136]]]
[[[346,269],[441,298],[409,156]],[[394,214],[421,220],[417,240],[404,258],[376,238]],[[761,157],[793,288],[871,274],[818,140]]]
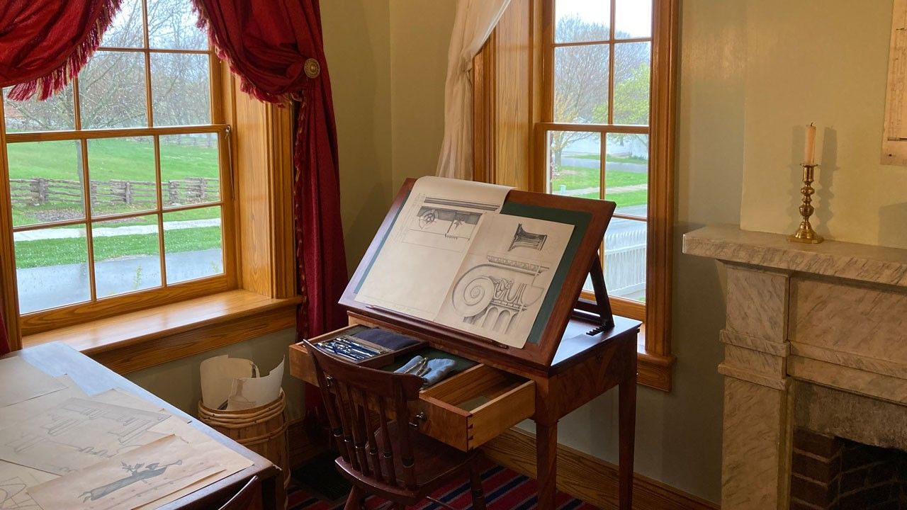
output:
[[[229,251],[234,260],[232,277],[103,299],[109,308],[93,316],[70,311],[53,324],[21,328],[20,322],[29,325],[18,310],[5,123],[0,123],[0,309],[11,348],[62,341],[127,373],[296,325],[301,298],[292,208],[295,110],[242,93],[239,78],[210,54],[211,103],[219,101],[220,108],[211,119],[219,123],[206,129],[231,128],[229,142],[221,140],[219,147],[222,228],[233,231],[229,246],[223,233],[223,250],[225,259]],[[153,295],[156,291],[161,295]]]

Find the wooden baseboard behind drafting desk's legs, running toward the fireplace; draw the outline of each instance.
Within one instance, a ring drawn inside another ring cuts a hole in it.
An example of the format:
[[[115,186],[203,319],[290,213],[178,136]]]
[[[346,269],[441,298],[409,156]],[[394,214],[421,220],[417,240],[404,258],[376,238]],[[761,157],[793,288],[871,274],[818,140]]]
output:
[[[535,436],[511,428],[482,446],[493,462],[535,477]],[[558,489],[600,508],[618,507],[617,466],[558,445]],[[637,510],[716,510],[719,506],[670,485],[637,474],[633,479]]]

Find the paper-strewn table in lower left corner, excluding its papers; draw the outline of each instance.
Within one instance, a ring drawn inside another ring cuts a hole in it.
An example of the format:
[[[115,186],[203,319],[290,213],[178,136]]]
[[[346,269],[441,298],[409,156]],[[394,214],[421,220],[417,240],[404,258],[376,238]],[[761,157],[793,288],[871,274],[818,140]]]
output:
[[[13,356],[23,358],[25,361],[34,365],[34,367],[40,368],[51,376],[58,377],[63,374],[68,375],[89,395],[96,395],[103,391],[107,391],[108,389],[120,387],[138,397],[153,402],[157,406],[161,406],[174,415],[189,417],[186,413],[180,411],[180,409],[171,406],[159,397],[155,397],[150,392],[132,383],[129,379],[123,378],[108,368],[104,368],[101,364],[93,361],[93,359],[84,356],[82,353],[73,348],[69,348],[60,342],[52,342],[33,348],[25,348],[10,353],[4,358]],[[168,505],[163,505],[161,506],[162,509],[172,510],[180,508],[186,510],[210,510],[218,508],[219,505],[225,503],[230,496],[239,492],[239,489],[249,481],[249,478],[256,475],[261,479],[261,495],[257,498],[258,506],[264,510],[276,510],[277,508],[283,507],[283,502],[285,501],[284,486],[279,476],[280,469],[277,466],[271,464],[265,457],[259,456],[245,446],[240,446],[236,442],[231,441],[226,436],[219,434],[219,432],[195,418],[192,418],[190,425],[211,436],[220,444],[249,458],[249,460],[255,464],[239,471],[239,473],[234,473],[233,475],[218,480],[190,495],[181,497]]]

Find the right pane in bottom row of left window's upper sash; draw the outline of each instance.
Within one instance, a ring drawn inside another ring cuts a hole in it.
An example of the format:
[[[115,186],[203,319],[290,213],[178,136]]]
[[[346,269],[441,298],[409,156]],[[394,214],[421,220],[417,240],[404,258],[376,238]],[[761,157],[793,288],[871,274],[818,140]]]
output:
[[[207,54],[151,54],[154,125],[211,123]]]

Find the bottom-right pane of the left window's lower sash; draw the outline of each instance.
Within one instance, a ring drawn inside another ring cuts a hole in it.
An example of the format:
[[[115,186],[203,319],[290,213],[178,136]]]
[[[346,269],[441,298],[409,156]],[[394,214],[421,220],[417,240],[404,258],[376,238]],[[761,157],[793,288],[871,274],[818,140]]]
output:
[[[167,283],[222,274],[221,240],[219,207],[165,213]]]

